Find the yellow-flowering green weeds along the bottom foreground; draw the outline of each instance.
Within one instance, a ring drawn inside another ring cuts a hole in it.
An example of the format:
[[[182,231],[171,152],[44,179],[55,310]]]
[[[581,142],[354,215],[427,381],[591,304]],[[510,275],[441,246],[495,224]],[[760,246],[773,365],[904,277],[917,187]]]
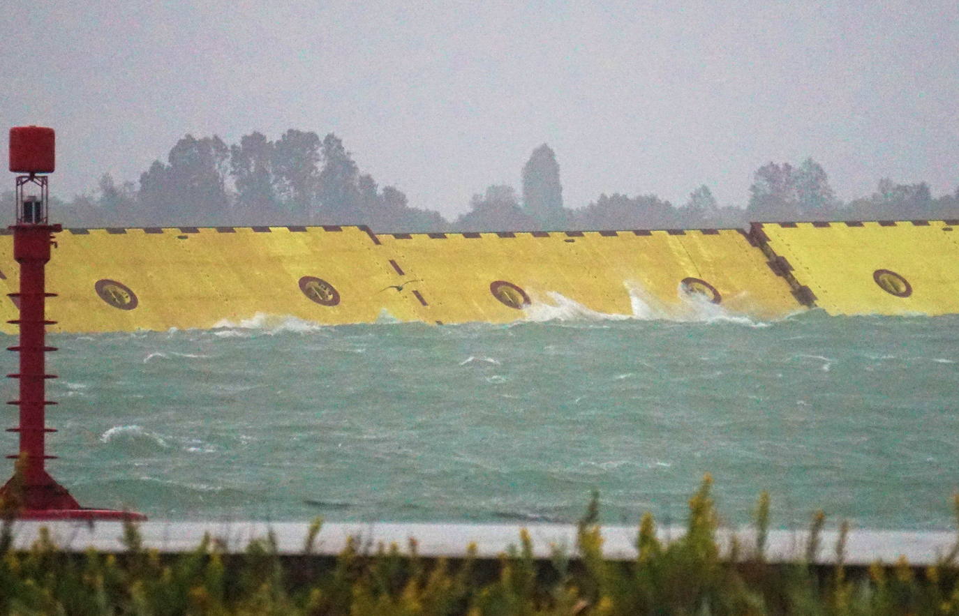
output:
[[[3,614],[952,614],[959,612],[956,550],[917,571],[876,563],[851,573],[843,565],[847,526],[835,546],[838,564],[811,564],[824,516],[812,521],[806,558],[769,563],[764,554],[769,499],[756,512],[756,536],[721,554],[707,477],[690,498],[688,533],[669,544],[643,517],[637,558],[603,559],[594,496],[579,522],[575,553],[536,560],[526,532],[498,561],[423,559],[416,543],[364,553],[350,543],[336,559],[312,556],[317,520],[300,557],[276,554],[273,537],[231,555],[204,538],[185,555],[145,549],[134,524],[117,555],[58,549],[49,534],[26,552],[0,536]],[[959,512],[959,500],[956,501]],[[824,549],[827,546],[822,546]]]

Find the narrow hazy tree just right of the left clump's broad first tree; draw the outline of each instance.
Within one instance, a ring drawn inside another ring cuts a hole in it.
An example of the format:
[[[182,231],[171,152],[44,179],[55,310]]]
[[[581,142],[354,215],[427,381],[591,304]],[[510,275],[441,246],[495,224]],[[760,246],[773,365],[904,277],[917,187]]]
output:
[[[273,190],[273,144],[260,132],[240,138],[240,145],[230,147],[230,173],[237,189],[236,222],[267,222],[276,215],[276,194]]]

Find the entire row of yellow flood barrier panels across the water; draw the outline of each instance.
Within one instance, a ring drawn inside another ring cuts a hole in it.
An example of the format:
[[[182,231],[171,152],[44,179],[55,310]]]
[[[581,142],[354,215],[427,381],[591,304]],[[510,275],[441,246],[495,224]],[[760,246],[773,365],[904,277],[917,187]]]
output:
[[[959,312],[959,221],[737,229],[374,234],[364,227],[67,229],[52,331],[552,318],[762,320]],[[8,232],[9,233],[9,232]],[[0,290],[16,290],[0,235]],[[5,288],[4,288],[5,287]],[[16,306],[0,301],[0,318]],[[3,331],[13,326],[4,323]]]

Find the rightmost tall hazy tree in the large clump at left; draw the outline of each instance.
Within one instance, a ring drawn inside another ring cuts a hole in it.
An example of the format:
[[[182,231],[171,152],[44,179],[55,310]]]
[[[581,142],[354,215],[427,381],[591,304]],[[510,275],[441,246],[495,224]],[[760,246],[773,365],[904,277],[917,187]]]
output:
[[[357,164],[332,132],[323,138],[322,153],[323,169],[316,192],[320,220],[332,224],[362,223]]]

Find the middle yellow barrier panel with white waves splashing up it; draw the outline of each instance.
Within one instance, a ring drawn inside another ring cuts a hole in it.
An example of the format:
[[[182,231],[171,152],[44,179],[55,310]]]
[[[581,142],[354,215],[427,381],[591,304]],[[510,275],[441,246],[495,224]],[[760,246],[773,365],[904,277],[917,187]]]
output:
[[[427,322],[601,313],[782,317],[801,308],[738,230],[381,235]],[[406,289],[403,291],[407,292]]]

